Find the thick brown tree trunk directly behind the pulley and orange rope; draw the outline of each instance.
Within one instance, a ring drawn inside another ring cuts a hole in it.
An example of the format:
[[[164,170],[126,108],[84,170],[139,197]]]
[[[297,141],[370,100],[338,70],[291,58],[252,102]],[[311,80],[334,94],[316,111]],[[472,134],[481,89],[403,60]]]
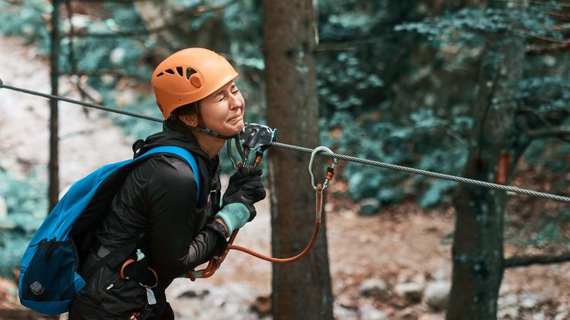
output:
[[[319,144],[313,1],[263,1],[268,125],[283,142]],[[291,257],[306,246],[315,224],[315,191],[308,156],[271,149],[272,250]],[[315,171],[324,167],[315,165]],[[322,175],[320,175],[322,176]],[[273,264],[273,319],[333,319],[325,219],[313,250],[297,262]]]

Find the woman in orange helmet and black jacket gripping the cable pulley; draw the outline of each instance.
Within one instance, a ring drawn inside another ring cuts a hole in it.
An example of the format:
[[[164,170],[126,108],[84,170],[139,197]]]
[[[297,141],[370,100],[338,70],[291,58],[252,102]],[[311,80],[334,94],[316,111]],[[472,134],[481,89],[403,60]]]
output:
[[[129,173],[95,232],[97,244],[83,270],[131,243],[137,250],[130,256],[138,261],[96,270],[78,292],[70,319],[173,319],[165,298],[171,281],[220,255],[231,233],[253,220],[253,204],[266,195],[257,167],[231,176],[220,206],[218,152],[244,127],[235,76],[225,58],[202,48],[176,52],[158,65],[152,86],[164,128],[135,142],[135,156],[159,146],[182,147],[198,162],[198,176],[169,153],[151,156]],[[127,271],[136,279],[126,279]]]

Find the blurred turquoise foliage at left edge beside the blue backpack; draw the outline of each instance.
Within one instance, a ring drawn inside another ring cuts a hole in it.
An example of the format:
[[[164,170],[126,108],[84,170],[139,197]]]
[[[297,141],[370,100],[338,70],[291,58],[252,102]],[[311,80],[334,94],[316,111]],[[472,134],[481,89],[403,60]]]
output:
[[[0,217],[0,275],[17,269],[22,253],[47,212],[47,186],[36,173],[18,177],[0,169],[0,198],[7,215]]]

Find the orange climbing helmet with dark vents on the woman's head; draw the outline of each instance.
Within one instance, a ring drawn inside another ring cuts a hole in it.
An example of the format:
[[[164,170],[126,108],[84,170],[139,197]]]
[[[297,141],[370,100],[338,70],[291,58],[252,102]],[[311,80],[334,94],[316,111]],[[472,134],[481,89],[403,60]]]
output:
[[[180,50],[162,61],[152,74],[152,88],[162,116],[213,94],[237,76],[220,54],[201,47]]]

